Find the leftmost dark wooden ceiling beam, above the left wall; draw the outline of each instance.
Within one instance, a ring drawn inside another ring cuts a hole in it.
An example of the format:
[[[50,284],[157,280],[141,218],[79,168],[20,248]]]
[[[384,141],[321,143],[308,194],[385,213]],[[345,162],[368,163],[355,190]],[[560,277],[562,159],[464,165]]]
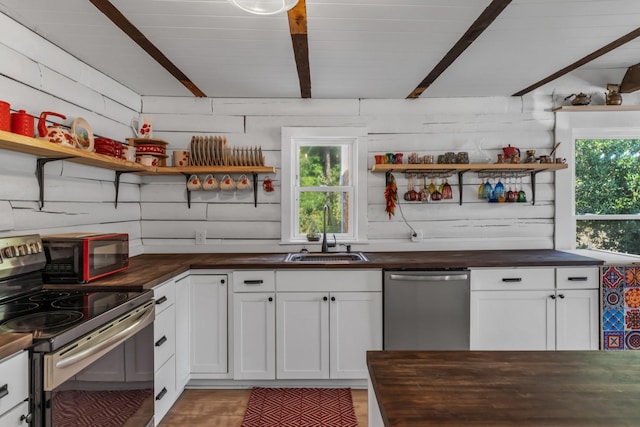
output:
[[[109,0],[89,0],[100,12],[111,20],[118,28],[131,38],[138,46],[147,52],[173,77],[178,79],[189,91],[198,97],[206,97],[180,69],[167,58],[135,25],[131,23]]]

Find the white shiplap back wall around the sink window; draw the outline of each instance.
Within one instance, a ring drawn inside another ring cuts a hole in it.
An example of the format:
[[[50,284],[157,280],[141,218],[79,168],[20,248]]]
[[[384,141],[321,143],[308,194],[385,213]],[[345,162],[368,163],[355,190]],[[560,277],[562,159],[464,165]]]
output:
[[[186,204],[183,177],[145,177],[141,188],[142,235],[146,252],[287,251],[280,239],[280,129],[283,126],[364,126],[371,167],[374,154],[388,151],[441,154],[467,151],[472,162],[494,161],[508,144],[549,152],[553,147],[551,97],[451,98],[424,100],[191,99],[143,97],[142,113],[151,117],[154,136],[186,149],[192,135],[224,135],[230,146],[261,145],[276,191],[259,187],[258,207],[249,193],[193,192]],[[560,172],[562,173],[562,172]],[[218,176],[221,178],[221,175]],[[260,176],[260,182],[264,176]],[[399,193],[407,180],[396,175]],[[437,250],[552,248],[554,175],[537,178],[536,205],[489,204],[477,199],[480,179],[464,177],[462,206],[454,200],[402,205],[406,219],[422,230],[424,241],[409,242],[400,211],[384,212],[384,175],[368,174],[367,242],[362,250]],[[529,198],[529,178],[524,180]],[[195,245],[196,232],[207,244]],[[311,245],[307,245],[315,249]]]

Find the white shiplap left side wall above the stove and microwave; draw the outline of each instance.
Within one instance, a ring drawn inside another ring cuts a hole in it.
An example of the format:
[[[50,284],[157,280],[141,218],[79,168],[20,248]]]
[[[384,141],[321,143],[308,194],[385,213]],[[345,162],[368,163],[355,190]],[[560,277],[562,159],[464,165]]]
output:
[[[56,111],[70,125],[84,117],[94,133],[119,140],[140,111],[140,96],[0,15],[0,99],[12,111]],[[66,231],[126,232],[141,253],[140,178],[123,175],[114,206],[114,172],[56,161],[45,166],[38,206],[36,157],[0,150],[0,236]]]

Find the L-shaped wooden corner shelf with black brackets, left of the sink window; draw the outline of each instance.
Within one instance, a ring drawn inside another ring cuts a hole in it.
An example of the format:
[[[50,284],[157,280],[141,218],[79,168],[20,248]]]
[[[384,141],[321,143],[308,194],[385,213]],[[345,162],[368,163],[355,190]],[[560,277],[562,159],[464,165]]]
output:
[[[168,144],[161,140],[130,138],[130,140],[141,142],[153,142]],[[115,205],[118,206],[118,193],[120,189],[120,176],[125,173],[137,175],[185,175],[188,179],[194,174],[225,173],[225,174],[251,174],[253,175],[254,205],[257,206],[257,176],[259,173],[275,173],[273,166],[144,166],[139,163],[118,159],[104,154],[96,154],[79,148],[66,147],[53,144],[38,138],[30,138],[18,135],[13,132],[0,130],[0,149],[16,151],[19,153],[38,156],[36,177],[40,187],[40,209],[44,206],[44,166],[52,161],[67,160],[87,166],[99,167],[115,171],[116,198]],[[187,190],[187,202],[191,207],[191,192]]]

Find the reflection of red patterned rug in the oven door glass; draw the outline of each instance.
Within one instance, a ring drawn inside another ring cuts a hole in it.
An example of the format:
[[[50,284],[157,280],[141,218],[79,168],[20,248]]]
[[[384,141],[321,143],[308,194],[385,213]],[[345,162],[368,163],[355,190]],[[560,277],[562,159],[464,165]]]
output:
[[[121,427],[151,396],[151,389],[59,391],[53,396],[56,427]]]

